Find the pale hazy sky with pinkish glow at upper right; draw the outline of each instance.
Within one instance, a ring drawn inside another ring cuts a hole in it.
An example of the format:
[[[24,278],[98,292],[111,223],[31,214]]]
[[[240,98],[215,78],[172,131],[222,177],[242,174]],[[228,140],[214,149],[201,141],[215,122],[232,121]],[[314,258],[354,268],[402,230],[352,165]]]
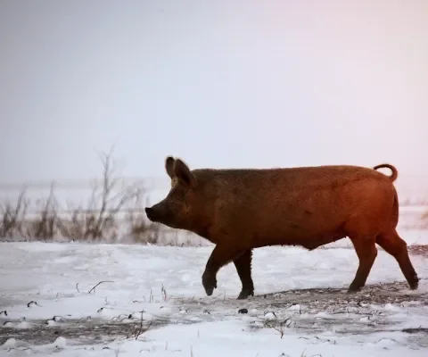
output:
[[[0,2],[0,182],[390,162],[428,178],[428,2]]]

